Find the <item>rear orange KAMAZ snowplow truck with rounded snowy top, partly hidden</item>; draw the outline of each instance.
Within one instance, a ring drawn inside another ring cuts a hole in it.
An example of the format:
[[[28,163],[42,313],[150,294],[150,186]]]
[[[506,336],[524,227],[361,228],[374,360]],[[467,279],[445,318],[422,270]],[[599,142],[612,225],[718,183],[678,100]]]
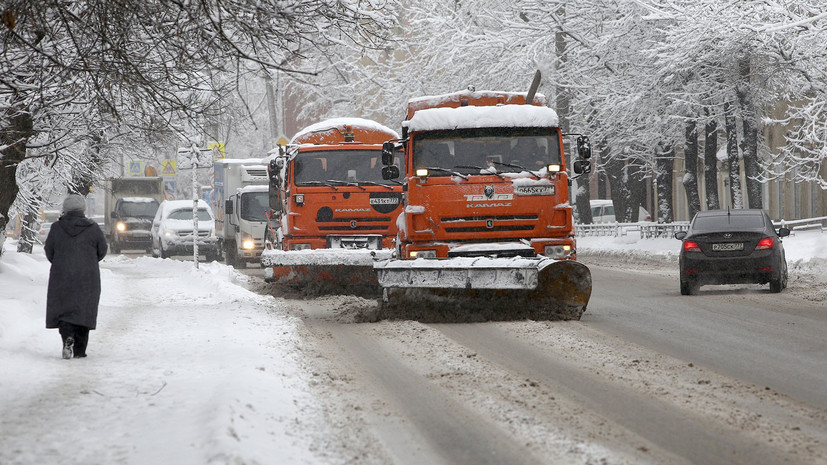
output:
[[[331,119],[303,129],[269,160],[277,218],[261,258],[268,282],[310,293],[378,288],[373,258],[390,256],[402,204],[401,184],[381,177],[382,144],[398,137],[374,121]]]

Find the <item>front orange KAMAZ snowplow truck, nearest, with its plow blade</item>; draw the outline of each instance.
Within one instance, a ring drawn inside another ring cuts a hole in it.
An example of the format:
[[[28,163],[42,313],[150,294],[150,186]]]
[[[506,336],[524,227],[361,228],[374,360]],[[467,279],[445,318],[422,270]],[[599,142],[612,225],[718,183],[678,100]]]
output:
[[[383,155],[383,177],[405,186],[396,257],[375,264],[386,316],[451,301],[479,319],[513,308],[580,318],[591,275],[575,261],[563,134],[544,103],[533,91],[471,90],[409,101],[403,137]],[[573,170],[584,174],[590,146],[577,142]],[[392,164],[400,146],[404,176]]]

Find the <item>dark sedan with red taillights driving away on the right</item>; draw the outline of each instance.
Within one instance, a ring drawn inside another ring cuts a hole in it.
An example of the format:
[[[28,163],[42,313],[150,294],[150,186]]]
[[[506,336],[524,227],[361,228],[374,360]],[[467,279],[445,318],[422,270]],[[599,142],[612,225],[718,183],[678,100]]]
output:
[[[680,253],[681,294],[704,284],[766,284],[770,292],[787,287],[787,259],[781,238],[763,210],[698,212],[689,231],[675,233]]]

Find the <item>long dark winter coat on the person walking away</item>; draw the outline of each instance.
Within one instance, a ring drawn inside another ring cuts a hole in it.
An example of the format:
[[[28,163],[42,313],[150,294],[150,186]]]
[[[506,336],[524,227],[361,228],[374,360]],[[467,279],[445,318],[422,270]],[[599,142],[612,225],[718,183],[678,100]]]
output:
[[[97,223],[72,211],[52,224],[44,245],[52,263],[46,296],[46,327],[61,321],[95,329],[100,301],[100,267],[106,238]]]

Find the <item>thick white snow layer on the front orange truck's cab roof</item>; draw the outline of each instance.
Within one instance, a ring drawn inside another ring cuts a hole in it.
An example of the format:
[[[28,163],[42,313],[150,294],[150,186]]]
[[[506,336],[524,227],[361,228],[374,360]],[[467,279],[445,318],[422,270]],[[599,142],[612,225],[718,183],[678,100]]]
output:
[[[418,110],[404,122],[410,131],[489,127],[557,127],[557,112],[535,105],[440,107]]]

